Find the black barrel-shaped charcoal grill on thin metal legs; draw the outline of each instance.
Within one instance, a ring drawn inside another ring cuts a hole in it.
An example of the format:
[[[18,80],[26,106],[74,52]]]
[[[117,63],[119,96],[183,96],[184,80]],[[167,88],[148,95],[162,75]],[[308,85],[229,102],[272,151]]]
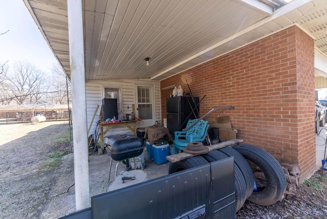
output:
[[[110,167],[109,167],[109,179],[108,184],[110,182],[110,174],[111,174],[111,166],[112,160],[118,161],[116,163],[115,168],[115,177],[117,176],[117,169],[118,165],[121,161],[133,158],[134,160],[134,169],[136,168],[135,165],[135,158],[139,158],[143,152],[144,143],[141,138],[136,136],[125,136],[125,137],[112,137],[108,140],[106,144],[106,151],[110,156]],[[141,165],[143,170],[143,166]]]

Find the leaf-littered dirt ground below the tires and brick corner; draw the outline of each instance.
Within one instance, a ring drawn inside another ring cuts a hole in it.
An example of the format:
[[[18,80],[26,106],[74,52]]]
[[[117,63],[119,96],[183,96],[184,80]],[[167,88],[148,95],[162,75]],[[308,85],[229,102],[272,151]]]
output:
[[[317,171],[281,202],[260,206],[248,201],[237,218],[327,218],[327,174]]]

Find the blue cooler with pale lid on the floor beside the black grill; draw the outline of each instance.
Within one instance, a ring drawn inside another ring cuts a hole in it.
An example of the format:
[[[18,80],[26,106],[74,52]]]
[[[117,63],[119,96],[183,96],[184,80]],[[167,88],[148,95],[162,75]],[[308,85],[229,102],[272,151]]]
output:
[[[169,156],[169,144],[163,145],[150,145],[147,141],[147,154],[150,160],[156,164],[163,164],[167,162],[166,157]]]

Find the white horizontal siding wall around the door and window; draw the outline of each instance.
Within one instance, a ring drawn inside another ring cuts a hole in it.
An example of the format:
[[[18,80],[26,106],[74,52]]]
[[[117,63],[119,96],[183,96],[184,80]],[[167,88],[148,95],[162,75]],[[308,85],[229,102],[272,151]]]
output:
[[[95,113],[96,107],[101,103],[104,98],[103,87],[120,87],[121,88],[121,103],[123,114],[131,114],[132,104],[135,104],[135,84],[146,84],[153,85],[155,91],[155,121],[160,123],[161,119],[161,108],[160,108],[160,83],[156,81],[148,80],[111,80],[111,81],[102,81],[102,80],[92,80],[86,81],[86,111],[87,111],[87,128],[89,127],[92,117]],[[129,108],[128,108],[129,107]],[[99,111],[100,112],[100,111]],[[97,122],[100,120],[99,114],[96,115],[89,135],[95,132],[97,127]],[[110,135],[122,135],[122,134],[132,134],[131,131],[126,128],[124,125],[117,125],[118,127],[112,128],[106,136]]]

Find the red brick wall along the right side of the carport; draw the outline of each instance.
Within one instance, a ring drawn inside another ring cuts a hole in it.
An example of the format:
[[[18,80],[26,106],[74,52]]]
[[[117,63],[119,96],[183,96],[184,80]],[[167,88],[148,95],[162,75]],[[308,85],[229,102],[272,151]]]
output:
[[[233,105],[207,118],[229,115],[237,138],[276,159],[298,163],[302,178],[315,169],[314,40],[293,26],[162,80],[203,97],[200,114]],[[166,98],[161,91],[162,117]]]

